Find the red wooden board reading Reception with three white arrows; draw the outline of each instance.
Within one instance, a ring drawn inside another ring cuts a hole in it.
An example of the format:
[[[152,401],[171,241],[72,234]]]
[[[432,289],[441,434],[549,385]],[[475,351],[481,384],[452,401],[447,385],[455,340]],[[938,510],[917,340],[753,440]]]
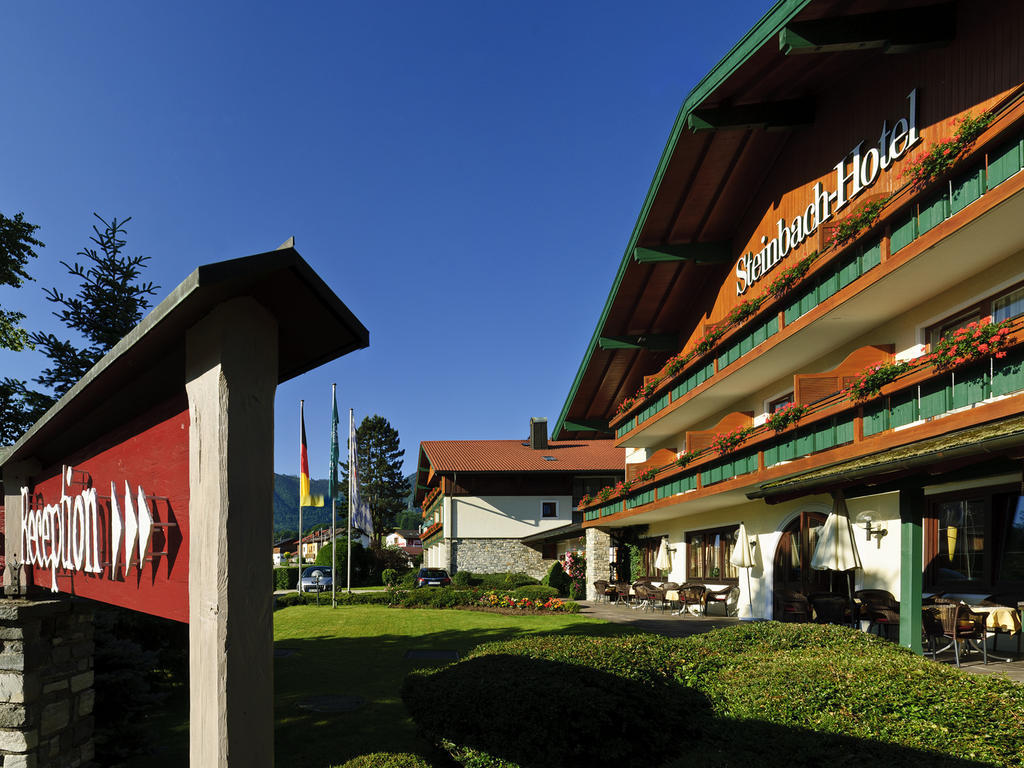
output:
[[[129,423],[19,488],[32,584],[188,621],[188,410]]]

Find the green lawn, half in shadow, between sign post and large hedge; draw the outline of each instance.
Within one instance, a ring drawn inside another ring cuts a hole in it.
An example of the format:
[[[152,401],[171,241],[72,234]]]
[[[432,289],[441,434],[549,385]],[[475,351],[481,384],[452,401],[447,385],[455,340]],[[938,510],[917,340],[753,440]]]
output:
[[[492,640],[536,634],[607,636],[631,634],[622,625],[571,614],[501,615],[471,610],[401,609],[352,605],[332,610],[300,605],[274,613],[274,647],[292,654],[274,659],[274,752],[282,768],[327,768],[374,752],[419,752],[399,689],[406,674],[442,662],[411,660],[407,651],[456,650],[460,656]],[[349,713],[319,714],[299,708],[307,696],[358,696]],[[150,719],[161,734],[150,768],[180,768],[187,761],[187,691],[180,690]]]

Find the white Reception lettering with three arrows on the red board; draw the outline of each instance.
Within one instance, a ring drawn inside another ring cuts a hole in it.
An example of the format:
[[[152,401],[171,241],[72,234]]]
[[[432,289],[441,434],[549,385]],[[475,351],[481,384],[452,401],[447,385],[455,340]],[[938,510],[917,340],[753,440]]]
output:
[[[29,488],[22,488],[25,564],[48,569],[53,592],[59,591],[58,571],[78,571],[94,577],[106,571],[111,581],[118,581],[119,572],[127,575],[133,565],[141,571],[147,556],[163,554],[151,551],[154,528],[174,525],[157,521],[153,506],[158,499],[146,496],[141,486],[133,493],[127,480],[122,496],[123,513],[118,504],[119,488],[114,482],[111,482],[110,497],[99,497],[96,488],[84,481],[80,482],[82,490],[70,496],[68,490],[74,484],[75,474],[71,467],[61,469],[60,499],[55,504],[33,507]],[[103,521],[101,499],[108,502],[110,511]]]

